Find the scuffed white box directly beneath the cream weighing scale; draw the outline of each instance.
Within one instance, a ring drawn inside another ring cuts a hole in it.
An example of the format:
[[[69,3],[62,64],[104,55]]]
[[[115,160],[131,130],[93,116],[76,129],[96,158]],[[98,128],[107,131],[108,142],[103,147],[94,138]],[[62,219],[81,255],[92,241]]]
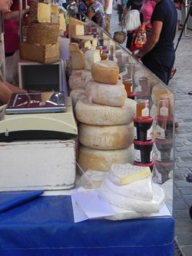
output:
[[[0,154],[0,191],[74,188],[74,139],[1,142]]]

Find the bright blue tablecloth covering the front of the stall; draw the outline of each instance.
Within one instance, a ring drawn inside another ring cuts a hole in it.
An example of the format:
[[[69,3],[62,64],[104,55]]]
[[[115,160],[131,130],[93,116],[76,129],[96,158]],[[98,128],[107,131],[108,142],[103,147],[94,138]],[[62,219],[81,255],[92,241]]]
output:
[[[82,221],[71,196],[39,196],[0,214],[0,255],[173,256],[174,218]]]

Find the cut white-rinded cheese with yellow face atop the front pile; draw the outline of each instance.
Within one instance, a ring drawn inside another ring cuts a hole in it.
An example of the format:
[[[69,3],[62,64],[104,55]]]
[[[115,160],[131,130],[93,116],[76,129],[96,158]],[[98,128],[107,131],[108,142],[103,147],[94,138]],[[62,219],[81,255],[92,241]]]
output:
[[[149,167],[130,164],[114,164],[111,165],[109,176],[114,183],[126,185],[134,181],[139,181],[142,178],[151,177],[151,169]]]

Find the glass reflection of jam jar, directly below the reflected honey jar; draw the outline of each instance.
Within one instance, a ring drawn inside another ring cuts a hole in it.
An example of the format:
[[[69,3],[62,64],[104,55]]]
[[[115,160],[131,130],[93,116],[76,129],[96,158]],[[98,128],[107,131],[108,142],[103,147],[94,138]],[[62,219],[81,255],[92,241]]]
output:
[[[173,138],[174,118],[157,116],[155,119],[157,138],[161,140]]]

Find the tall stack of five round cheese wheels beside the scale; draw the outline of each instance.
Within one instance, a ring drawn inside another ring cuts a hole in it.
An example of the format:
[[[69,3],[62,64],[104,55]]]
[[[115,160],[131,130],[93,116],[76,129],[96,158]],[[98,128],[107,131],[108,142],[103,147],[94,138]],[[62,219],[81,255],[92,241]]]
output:
[[[136,102],[127,98],[115,62],[94,62],[91,75],[86,98],[78,100],[74,108],[81,143],[78,164],[84,171],[108,171],[113,163],[133,163]]]

